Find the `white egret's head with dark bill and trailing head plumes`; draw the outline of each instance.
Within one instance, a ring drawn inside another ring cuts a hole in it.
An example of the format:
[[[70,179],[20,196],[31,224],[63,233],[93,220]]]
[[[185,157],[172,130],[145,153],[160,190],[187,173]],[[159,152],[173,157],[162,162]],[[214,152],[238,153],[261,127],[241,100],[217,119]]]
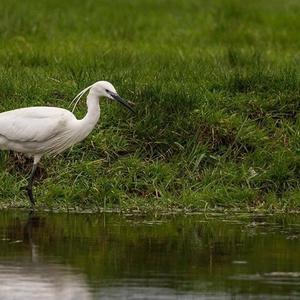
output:
[[[94,84],[90,85],[89,87],[85,88],[84,90],[82,90],[75,98],[73,101],[76,101],[76,104],[78,103],[78,101],[80,100],[80,98],[84,95],[85,92],[87,92],[88,90],[90,90],[90,93],[95,94],[97,97],[106,97],[108,99],[112,99],[115,100],[117,102],[119,102],[120,104],[122,104],[123,106],[125,106],[127,109],[129,109],[131,112],[134,113],[134,110],[132,109],[132,107],[124,100],[122,99],[116,89],[114,88],[114,86],[108,82],[108,81],[97,81]],[[72,101],[72,102],[73,102]],[[76,106],[75,104],[75,106]],[[74,106],[74,109],[75,109]],[[73,109],[73,111],[74,111]]]

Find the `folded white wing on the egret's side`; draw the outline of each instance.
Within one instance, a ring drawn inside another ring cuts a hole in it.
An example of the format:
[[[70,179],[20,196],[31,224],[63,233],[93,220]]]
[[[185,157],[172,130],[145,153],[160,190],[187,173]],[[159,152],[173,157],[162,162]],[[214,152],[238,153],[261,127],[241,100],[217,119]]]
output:
[[[61,108],[30,107],[0,113],[0,136],[17,142],[43,142],[64,131],[74,115]]]

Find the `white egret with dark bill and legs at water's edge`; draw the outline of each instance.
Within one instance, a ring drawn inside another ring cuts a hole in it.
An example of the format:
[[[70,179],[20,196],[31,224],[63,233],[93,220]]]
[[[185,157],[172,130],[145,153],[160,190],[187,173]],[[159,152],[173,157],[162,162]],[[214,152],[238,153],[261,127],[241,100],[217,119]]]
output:
[[[73,112],[86,92],[87,113],[82,119],[77,119]],[[60,107],[33,106],[0,113],[0,150],[12,150],[33,158],[26,186],[32,207],[36,203],[32,192],[34,175],[41,158],[57,155],[84,140],[99,120],[99,100],[102,97],[115,100],[134,113],[129,103],[108,81],[97,81],[83,89],[71,102],[75,102],[72,111]]]

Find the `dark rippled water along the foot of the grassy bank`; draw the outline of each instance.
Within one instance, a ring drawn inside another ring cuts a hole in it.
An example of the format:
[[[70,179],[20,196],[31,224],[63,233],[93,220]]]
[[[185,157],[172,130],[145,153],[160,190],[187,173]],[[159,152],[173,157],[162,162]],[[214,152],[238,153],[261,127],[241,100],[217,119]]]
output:
[[[300,216],[0,212],[0,299],[300,299]]]

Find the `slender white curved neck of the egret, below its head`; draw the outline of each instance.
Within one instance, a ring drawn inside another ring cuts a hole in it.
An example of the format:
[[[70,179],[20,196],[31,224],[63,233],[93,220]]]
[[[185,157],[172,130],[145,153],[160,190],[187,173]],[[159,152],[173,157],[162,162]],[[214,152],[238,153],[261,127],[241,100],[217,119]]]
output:
[[[92,90],[87,96],[87,108],[87,114],[81,121],[82,124],[84,124],[84,128],[89,133],[95,127],[100,117],[99,95]]]

